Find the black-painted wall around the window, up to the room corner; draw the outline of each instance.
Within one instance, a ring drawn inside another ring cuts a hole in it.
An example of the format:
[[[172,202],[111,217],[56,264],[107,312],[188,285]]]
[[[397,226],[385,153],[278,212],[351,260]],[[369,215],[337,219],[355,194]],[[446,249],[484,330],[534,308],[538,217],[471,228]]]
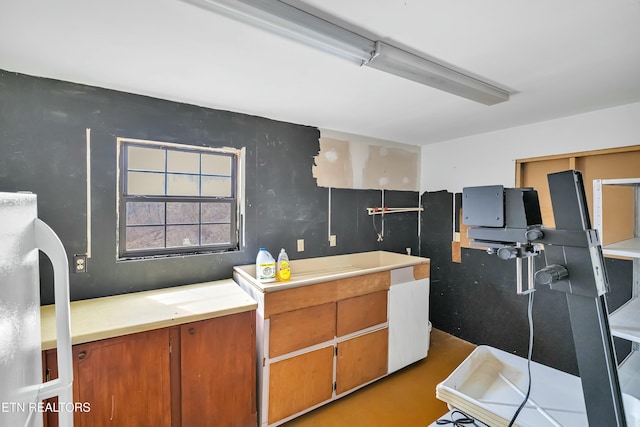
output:
[[[291,259],[360,251],[419,250],[417,214],[385,219],[378,242],[366,207],[381,192],[331,190],[312,176],[316,128],[0,70],[0,191],[38,195],[38,211],[71,259],[86,251],[86,129],[91,129],[92,257],[71,274],[72,300],[229,278],[259,246]],[[116,137],[246,148],[246,247],[241,251],[116,262]],[[387,191],[387,205],[417,206],[418,192]],[[378,218],[379,221],[379,218]],[[378,222],[378,227],[380,227]],[[296,240],[305,251],[296,251]],[[294,272],[295,274],[295,272]],[[53,302],[41,262],[41,301]]]

